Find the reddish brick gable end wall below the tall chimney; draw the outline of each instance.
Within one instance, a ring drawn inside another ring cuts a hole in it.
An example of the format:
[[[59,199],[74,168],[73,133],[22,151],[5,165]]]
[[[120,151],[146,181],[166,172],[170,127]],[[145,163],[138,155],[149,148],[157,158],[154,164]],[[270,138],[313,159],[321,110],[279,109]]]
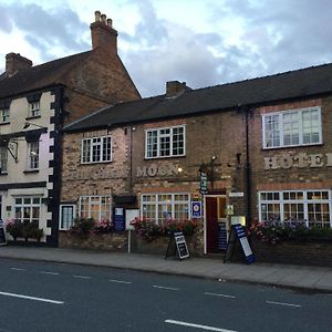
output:
[[[141,98],[129,74],[117,54],[102,49],[92,54],[65,77],[66,123],[94,111],[121,102]]]

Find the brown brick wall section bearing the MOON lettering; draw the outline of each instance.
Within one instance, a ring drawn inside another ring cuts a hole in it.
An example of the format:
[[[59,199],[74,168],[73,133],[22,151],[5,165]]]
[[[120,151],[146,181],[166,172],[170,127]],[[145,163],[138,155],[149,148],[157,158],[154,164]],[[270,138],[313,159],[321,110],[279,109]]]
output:
[[[145,129],[185,125],[186,156],[145,159]],[[190,193],[199,194],[199,168],[203,164],[210,170],[212,156],[214,186],[210,193],[246,191],[246,141],[245,116],[236,112],[220,112],[209,115],[154,122],[136,126],[133,132],[133,184],[136,193]],[[237,158],[239,154],[239,160]],[[239,162],[239,163],[238,163]],[[137,177],[137,167],[160,166],[170,163],[181,173]],[[246,212],[245,198],[231,203],[239,215]]]

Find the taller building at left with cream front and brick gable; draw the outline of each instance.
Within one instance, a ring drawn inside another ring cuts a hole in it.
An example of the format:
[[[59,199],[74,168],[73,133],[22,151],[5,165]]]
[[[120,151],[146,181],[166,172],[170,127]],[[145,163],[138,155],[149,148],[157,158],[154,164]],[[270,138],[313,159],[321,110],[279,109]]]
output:
[[[117,55],[112,20],[96,11],[90,28],[91,51],[35,66],[9,53],[0,76],[0,217],[38,225],[54,246],[63,125],[141,98]]]

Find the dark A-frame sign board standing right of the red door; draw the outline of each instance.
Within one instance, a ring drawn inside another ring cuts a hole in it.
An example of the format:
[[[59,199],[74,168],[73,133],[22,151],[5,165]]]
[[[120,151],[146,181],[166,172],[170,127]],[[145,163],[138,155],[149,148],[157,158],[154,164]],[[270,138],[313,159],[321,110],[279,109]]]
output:
[[[246,257],[246,261],[248,263],[252,263],[255,261],[255,256],[252,253],[252,250],[250,248],[250,245],[249,245],[249,241],[247,238],[246,228],[240,224],[231,226],[229,241],[227,245],[224,262],[226,262],[227,260],[230,260],[230,258],[234,253],[234,250],[235,250],[235,245],[236,245],[237,239],[239,240],[239,242],[241,245],[242,251]]]

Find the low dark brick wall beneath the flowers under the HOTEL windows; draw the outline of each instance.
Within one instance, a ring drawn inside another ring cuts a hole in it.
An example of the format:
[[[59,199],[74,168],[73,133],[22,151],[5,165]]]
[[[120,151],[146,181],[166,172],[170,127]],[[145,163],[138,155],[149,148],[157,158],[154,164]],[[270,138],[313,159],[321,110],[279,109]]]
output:
[[[251,247],[258,262],[332,267],[332,241],[288,240],[269,245],[251,239]]]

